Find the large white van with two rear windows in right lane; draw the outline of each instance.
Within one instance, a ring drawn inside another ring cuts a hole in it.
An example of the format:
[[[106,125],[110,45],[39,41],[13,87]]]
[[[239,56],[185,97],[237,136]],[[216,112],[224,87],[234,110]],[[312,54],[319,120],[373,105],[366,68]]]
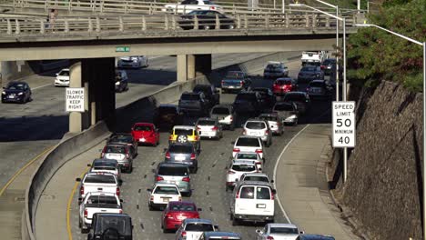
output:
[[[238,225],[239,222],[273,222],[275,192],[266,182],[239,183],[230,200],[232,225]]]

